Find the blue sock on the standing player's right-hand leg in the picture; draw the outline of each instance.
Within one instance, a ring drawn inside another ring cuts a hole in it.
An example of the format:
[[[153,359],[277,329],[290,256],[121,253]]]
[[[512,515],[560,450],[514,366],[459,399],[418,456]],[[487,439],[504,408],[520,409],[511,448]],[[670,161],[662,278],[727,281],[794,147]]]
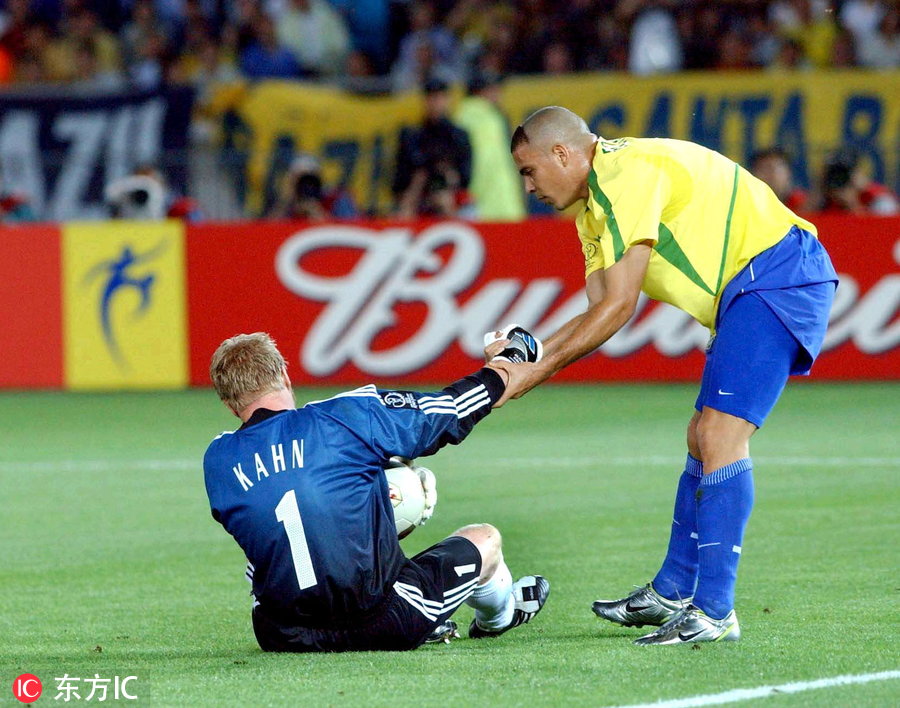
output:
[[[753,462],[749,457],[704,475],[697,493],[700,569],[694,604],[714,619],[734,609],[734,585],[753,508]]]

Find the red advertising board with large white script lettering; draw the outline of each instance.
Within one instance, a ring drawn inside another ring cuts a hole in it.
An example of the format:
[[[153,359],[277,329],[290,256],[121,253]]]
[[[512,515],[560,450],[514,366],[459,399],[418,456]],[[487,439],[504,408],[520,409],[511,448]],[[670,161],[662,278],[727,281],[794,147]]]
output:
[[[900,378],[900,219],[819,217],[841,274],[816,378]],[[582,312],[571,223],[191,226],[191,382],[212,352],[264,330],[295,383],[447,381],[480,361],[484,332],[518,322],[547,336]],[[633,320],[558,381],[695,380],[708,332],[642,301]]]

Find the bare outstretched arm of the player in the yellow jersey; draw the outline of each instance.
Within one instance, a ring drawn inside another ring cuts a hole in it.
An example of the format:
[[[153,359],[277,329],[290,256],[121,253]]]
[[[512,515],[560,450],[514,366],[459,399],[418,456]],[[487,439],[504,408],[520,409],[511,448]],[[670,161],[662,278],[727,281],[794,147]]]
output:
[[[586,282],[588,309],[573,317],[544,341],[544,358],[534,364],[499,362],[509,383],[494,407],[519,398],[573,361],[590,354],[618,332],[634,314],[650,261],[652,242],[629,248],[621,260],[606,270],[591,273]]]

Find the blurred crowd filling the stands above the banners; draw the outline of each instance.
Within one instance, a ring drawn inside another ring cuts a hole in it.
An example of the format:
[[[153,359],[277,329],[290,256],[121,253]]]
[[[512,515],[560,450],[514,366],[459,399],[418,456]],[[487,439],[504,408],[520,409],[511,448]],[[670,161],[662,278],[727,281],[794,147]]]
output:
[[[3,0],[0,83],[900,66],[896,0]]]

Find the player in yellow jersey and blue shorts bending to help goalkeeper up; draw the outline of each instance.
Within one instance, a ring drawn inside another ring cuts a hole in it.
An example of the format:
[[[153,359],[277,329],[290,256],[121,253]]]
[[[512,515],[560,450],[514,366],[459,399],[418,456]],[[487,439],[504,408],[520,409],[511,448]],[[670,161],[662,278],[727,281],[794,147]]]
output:
[[[628,597],[598,600],[593,610],[624,626],[658,626],[637,644],[738,639],[750,436],[788,376],[808,373],[819,353],[837,284],[828,254],[815,227],[768,186],[694,143],[604,140],[551,106],[519,126],[511,149],[529,193],[557,209],[584,204],[576,225],[588,308],[544,342],[541,361],[500,365],[510,375],[500,404],[603,344],[642,290],[713,334],[662,567]]]

